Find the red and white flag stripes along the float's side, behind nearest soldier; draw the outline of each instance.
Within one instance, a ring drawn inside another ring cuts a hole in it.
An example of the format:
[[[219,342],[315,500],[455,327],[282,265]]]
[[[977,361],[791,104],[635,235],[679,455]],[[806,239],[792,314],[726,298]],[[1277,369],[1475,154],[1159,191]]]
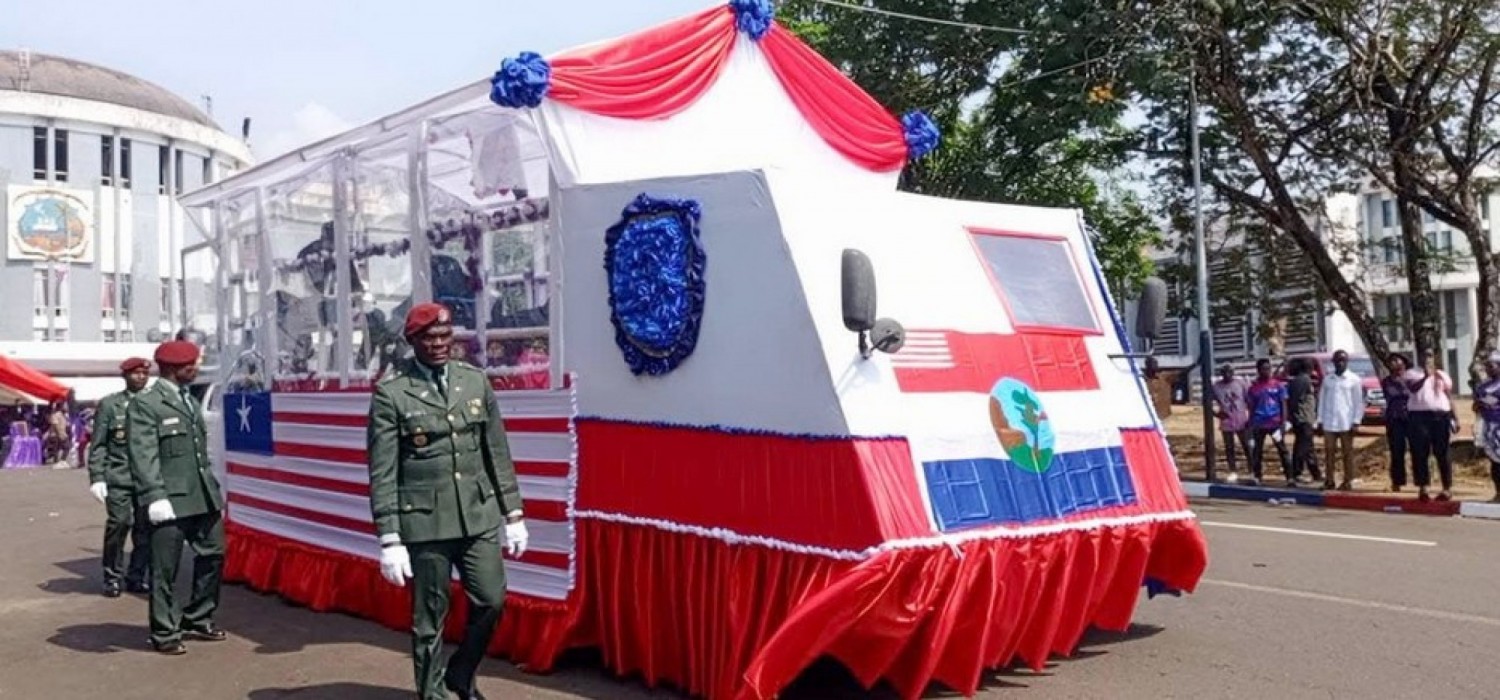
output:
[[[531,543],[506,559],[512,594],[564,600],[573,589],[578,484],[574,390],[498,391]],[[230,517],[294,541],[376,559],[363,391],[273,393],[274,456],[225,453]],[[228,429],[234,429],[232,406]]]

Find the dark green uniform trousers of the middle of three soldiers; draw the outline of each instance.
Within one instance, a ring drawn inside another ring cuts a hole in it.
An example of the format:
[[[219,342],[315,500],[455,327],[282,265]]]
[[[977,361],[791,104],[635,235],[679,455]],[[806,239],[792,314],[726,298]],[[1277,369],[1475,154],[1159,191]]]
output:
[[[192,547],[192,597],[177,601],[177,564],[183,544]],[[152,528],[152,643],[182,640],[183,630],[213,622],[224,576],[224,514],[188,516]]]

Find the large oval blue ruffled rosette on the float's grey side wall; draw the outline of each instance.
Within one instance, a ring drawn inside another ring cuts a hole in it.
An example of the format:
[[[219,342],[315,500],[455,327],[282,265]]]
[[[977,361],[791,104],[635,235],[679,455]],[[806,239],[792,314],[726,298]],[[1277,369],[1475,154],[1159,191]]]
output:
[[[604,235],[609,319],[636,375],[666,375],[698,346],[708,264],[699,219],[693,199],[642,193]]]

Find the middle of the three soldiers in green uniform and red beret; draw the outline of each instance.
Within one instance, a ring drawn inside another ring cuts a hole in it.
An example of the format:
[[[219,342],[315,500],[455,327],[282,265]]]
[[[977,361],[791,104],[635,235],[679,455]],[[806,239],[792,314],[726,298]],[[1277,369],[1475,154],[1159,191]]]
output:
[[[208,436],[188,385],[198,378],[198,346],[172,340],[156,348],[160,379],[126,409],[130,469],[152,520],[152,646],[188,654],[183,636],[218,642],[213,622],[224,574],[224,495],[208,463]],[[192,598],[177,601],[183,543],[194,550]]]

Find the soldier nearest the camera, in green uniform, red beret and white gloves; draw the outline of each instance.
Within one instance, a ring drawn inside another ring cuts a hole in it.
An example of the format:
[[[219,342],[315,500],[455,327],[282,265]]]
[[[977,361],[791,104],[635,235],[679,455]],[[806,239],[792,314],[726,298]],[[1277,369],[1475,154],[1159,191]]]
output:
[[[417,304],[405,334],[416,360],[375,387],[369,412],[370,511],[381,543],[381,574],[412,582],[411,654],[423,700],[483,699],[474,675],[500,624],[506,598],[504,549],[526,549],[520,490],[495,390],[476,367],[448,363],[453,313]],[[504,532],[501,532],[504,525]],[[442,627],[458,567],[470,612],[464,642],[444,664]]]

